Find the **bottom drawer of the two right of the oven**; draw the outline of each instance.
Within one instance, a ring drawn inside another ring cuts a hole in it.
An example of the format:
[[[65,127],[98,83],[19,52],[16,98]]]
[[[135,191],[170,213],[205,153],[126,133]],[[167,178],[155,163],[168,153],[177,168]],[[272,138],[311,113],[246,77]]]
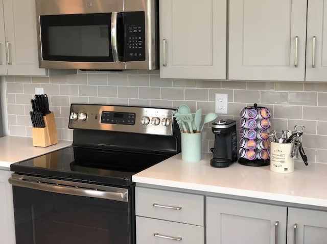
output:
[[[165,236],[176,239],[165,238]],[[181,239],[177,241],[177,238]],[[204,227],[136,216],[136,244],[175,242],[176,244],[203,244]]]

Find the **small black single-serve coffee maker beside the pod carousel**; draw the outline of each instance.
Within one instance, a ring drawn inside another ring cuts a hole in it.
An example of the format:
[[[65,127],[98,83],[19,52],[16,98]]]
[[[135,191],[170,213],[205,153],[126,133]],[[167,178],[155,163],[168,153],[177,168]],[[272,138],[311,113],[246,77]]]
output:
[[[215,134],[215,146],[211,148],[214,157],[210,165],[216,168],[228,167],[237,161],[236,121],[222,119],[214,122],[212,131]]]

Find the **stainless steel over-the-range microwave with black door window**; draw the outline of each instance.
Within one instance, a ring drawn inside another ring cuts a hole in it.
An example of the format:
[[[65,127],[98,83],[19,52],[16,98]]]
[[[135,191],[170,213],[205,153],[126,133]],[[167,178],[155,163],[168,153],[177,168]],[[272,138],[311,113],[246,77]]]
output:
[[[158,0],[36,0],[40,68],[158,69]]]

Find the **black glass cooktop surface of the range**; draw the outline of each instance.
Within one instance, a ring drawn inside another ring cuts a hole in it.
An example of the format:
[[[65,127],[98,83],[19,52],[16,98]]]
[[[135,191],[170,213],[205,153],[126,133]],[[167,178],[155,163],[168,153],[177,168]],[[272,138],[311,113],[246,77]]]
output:
[[[132,175],[169,156],[88,147],[68,147],[10,166],[13,172],[47,178],[130,185]]]

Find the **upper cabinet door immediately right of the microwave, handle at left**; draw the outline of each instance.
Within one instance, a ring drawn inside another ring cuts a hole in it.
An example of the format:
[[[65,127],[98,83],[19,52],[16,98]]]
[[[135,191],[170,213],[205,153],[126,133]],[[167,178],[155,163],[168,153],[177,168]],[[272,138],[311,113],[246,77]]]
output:
[[[226,78],[226,0],[160,0],[160,77]]]

